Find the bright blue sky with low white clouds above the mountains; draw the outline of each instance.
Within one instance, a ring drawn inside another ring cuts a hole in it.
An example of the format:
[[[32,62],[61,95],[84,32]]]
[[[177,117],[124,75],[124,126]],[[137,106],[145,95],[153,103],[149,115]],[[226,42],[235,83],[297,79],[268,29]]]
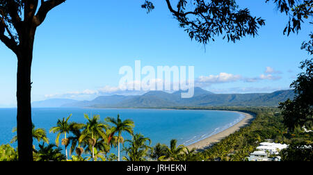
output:
[[[236,44],[219,38],[205,49],[179,28],[165,1],[155,1],[148,15],[142,2],[68,0],[49,12],[35,37],[32,100],[113,93],[120,67],[134,67],[135,60],[142,66],[195,66],[195,78],[205,81],[202,88],[216,93],[273,92],[288,89],[307,58],[300,45],[312,28],[283,35],[287,17],[265,0],[238,1],[266,19],[256,38]],[[0,53],[0,106],[11,106],[17,59],[2,43]]]

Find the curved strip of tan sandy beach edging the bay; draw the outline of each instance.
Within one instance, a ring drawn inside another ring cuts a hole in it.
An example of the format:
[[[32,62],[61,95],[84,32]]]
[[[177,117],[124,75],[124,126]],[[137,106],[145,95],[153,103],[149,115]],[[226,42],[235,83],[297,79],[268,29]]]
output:
[[[241,113],[234,111],[236,113]],[[225,131],[222,131],[220,133],[217,133],[216,135],[211,135],[209,138],[205,138],[204,140],[200,140],[199,142],[196,142],[194,144],[188,145],[188,149],[197,149],[198,151],[207,149],[211,146],[211,144],[214,144],[216,142],[219,142],[223,138],[226,138],[228,135],[238,131],[240,128],[247,126],[250,124],[252,119],[255,117],[254,115],[248,114],[248,113],[241,113],[243,115],[246,115],[246,117],[241,120],[241,122],[235,124],[234,126],[227,128]]]

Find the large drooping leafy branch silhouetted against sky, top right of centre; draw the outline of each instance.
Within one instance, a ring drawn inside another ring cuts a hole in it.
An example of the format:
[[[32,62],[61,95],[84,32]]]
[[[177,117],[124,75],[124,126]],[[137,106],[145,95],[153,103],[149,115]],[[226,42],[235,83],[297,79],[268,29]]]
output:
[[[214,41],[219,35],[228,42],[236,42],[246,35],[255,37],[257,29],[265,24],[261,17],[252,17],[248,8],[239,9],[234,0],[179,0],[176,10],[170,0],[166,3],[191,40],[202,44]],[[145,1],[142,7],[147,12],[154,8],[150,1]]]

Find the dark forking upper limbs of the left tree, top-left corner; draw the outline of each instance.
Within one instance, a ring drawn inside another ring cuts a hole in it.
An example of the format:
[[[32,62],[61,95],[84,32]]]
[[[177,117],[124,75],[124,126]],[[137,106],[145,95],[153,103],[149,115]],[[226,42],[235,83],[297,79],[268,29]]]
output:
[[[24,39],[33,42],[33,38],[31,42],[31,38],[26,37],[26,31],[34,36],[35,28],[45,21],[47,13],[63,2],[65,0],[0,0],[0,40],[19,55]]]

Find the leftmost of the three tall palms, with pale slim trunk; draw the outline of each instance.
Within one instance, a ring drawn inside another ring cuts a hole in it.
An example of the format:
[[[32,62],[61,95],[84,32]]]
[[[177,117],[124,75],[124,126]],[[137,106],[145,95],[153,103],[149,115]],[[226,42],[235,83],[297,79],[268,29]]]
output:
[[[65,146],[66,160],[67,160],[67,146],[69,144],[69,140],[66,138],[66,134],[70,133],[71,124],[68,122],[68,120],[70,119],[71,116],[72,116],[72,114],[69,117],[67,117],[66,119],[63,117],[62,121],[60,119],[58,119],[58,122],[56,122],[56,126],[54,126],[50,129],[50,133],[51,132],[52,133],[58,133],[58,135],[56,135],[56,146],[57,147],[58,147],[60,135],[64,133],[64,139],[62,139],[61,144],[63,144]]]

